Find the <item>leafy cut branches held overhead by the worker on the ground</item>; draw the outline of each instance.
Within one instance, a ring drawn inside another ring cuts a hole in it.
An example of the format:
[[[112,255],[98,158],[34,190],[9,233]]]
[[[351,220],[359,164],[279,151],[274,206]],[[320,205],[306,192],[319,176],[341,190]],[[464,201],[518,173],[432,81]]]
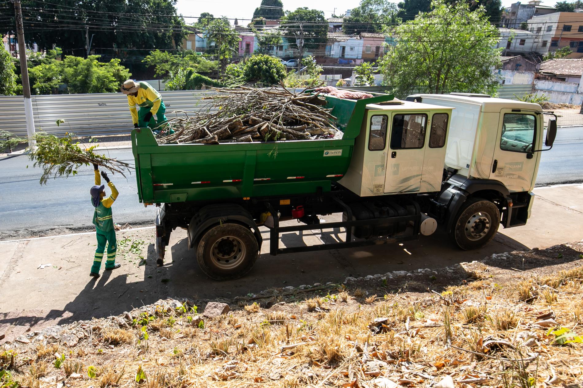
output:
[[[97,144],[85,147],[73,134],[68,133],[65,137],[57,137],[38,132],[34,135],[34,140],[36,140],[36,147],[29,150],[29,158],[34,161],[34,167],[43,169],[40,184],[46,184],[50,177],[74,176],[78,173],[79,167],[92,164],[113,173],[118,172],[124,177],[124,170],[133,168],[128,163],[97,154],[94,152]]]

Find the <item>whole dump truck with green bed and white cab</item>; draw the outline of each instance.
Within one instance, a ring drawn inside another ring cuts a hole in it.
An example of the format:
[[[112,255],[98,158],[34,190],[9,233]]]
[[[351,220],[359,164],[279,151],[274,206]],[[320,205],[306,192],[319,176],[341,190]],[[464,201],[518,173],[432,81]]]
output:
[[[326,102],[342,138],[161,145],[149,129],[132,131],[139,200],[159,207],[158,264],[177,227],[202,271],[227,280],[251,270],[260,226],[272,255],[414,240],[437,227],[470,250],[529,218],[552,114],[539,105],[472,94]],[[547,147],[555,135],[556,116]],[[342,220],[320,223],[333,213]],[[282,233],[334,228],[344,241],[280,246]]]

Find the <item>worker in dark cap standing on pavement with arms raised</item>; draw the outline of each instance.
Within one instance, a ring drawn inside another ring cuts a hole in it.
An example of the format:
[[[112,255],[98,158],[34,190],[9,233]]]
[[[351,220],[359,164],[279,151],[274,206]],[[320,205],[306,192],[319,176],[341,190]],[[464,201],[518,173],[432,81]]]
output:
[[[93,266],[91,267],[90,276],[99,277],[99,268],[103,254],[107,245],[107,260],[106,269],[112,270],[120,268],[121,264],[115,264],[115,252],[117,252],[117,241],[115,240],[115,229],[113,227],[113,215],[111,213],[111,205],[119,194],[113,183],[107,177],[105,172],[101,172],[101,176],[106,180],[107,186],[111,189],[111,195],[107,198],[104,191],[105,186],[101,184],[101,176],[99,176],[99,166],[93,164],[95,169],[95,186],[90,190],[91,203],[95,208],[93,213],[93,225],[97,232],[97,249],[95,250],[95,257],[93,258]]]

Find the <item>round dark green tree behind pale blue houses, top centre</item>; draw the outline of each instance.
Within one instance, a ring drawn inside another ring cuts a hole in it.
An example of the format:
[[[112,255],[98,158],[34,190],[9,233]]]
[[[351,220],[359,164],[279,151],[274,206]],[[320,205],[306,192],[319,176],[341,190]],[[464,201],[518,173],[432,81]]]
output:
[[[297,40],[303,39],[304,48],[316,49],[325,44],[328,38],[328,22],[324,12],[308,7],[298,8],[294,11],[286,11],[283,17],[283,27],[289,35],[290,45],[297,48]]]

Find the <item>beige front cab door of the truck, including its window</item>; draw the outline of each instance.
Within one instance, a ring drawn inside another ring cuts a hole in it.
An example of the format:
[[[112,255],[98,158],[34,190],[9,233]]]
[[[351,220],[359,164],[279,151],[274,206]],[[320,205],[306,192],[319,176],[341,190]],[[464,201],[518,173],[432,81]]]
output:
[[[490,179],[501,181],[511,192],[529,191],[534,183],[540,152],[531,152],[540,148],[536,141],[541,138],[540,120],[542,117],[535,112],[500,111]]]

